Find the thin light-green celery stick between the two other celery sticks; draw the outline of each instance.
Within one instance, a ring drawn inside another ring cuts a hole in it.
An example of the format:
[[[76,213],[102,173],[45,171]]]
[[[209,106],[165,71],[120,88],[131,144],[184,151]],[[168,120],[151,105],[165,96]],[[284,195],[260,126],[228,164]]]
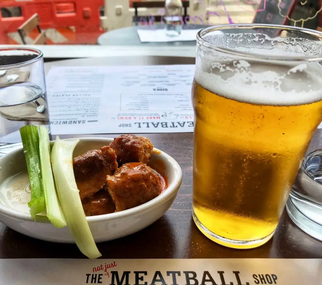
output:
[[[38,128],[39,154],[41,171],[43,174],[43,190],[45,194],[47,218],[55,227],[66,227],[67,224],[57,198],[54,178],[52,176],[48,129],[46,129],[45,126],[39,126]]]

